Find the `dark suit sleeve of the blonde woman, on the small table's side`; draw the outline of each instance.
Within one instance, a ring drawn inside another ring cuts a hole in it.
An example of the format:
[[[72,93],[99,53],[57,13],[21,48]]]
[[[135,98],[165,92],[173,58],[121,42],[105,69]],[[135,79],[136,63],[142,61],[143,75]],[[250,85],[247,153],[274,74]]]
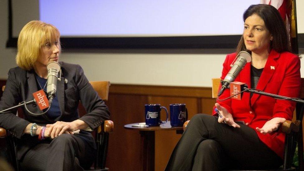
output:
[[[80,101],[87,114],[79,118],[86,122],[91,129],[95,129],[103,121],[110,118],[110,112],[104,101],[98,96],[80,65],[76,68],[75,82],[79,91]]]

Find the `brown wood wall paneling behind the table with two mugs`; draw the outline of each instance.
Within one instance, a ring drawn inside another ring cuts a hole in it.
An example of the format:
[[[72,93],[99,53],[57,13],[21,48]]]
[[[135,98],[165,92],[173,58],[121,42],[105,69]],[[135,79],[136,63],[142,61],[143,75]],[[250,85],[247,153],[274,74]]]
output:
[[[211,88],[112,84],[107,105],[114,121],[110,134],[106,167],[111,170],[140,170],[139,131],[126,130],[125,124],[145,122],[145,104],[185,103],[188,119],[197,113],[211,114],[215,99]],[[161,112],[165,119],[165,112]],[[155,132],[155,170],[164,170],[181,135],[176,131]]]

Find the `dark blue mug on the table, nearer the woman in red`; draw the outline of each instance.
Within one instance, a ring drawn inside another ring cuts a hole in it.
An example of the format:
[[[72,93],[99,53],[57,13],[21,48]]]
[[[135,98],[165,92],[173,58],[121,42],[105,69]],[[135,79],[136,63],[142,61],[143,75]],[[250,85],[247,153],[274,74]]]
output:
[[[188,119],[186,104],[170,104],[171,126],[183,126]]]

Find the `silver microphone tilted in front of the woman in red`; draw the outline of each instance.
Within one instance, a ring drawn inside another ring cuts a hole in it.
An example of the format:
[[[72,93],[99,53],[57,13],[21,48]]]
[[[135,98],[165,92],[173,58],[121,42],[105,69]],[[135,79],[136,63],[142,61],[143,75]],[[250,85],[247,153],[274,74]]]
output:
[[[219,91],[217,97],[219,97],[224,92],[224,90],[228,88],[229,84],[235,80],[247,62],[251,62],[251,55],[246,51],[240,51],[230,71],[222,81],[222,88]]]

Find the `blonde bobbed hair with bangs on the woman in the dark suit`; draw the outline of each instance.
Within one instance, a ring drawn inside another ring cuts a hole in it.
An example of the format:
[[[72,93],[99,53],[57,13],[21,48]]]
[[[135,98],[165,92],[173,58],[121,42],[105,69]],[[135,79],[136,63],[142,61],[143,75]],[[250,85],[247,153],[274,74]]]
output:
[[[33,69],[40,55],[41,47],[46,43],[59,41],[58,29],[42,21],[30,21],[20,31],[17,44],[17,65],[25,70]],[[59,42],[59,52],[61,51]]]

